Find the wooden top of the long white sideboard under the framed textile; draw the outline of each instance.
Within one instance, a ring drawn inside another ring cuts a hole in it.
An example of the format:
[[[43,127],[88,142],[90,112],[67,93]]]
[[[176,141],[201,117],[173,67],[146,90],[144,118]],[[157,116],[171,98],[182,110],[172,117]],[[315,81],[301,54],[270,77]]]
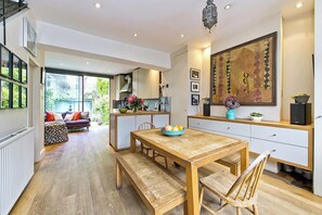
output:
[[[254,122],[247,118],[235,118],[235,119],[228,119],[226,117],[218,117],[218,116],[204,116],[204,115],[191,115],[188,116],[191,118],[201,118],[201,119],[209,119],[209,121],[221,121],[221,122],[229,122],[229,123],[243,123],[243,124],[250,124],[250,125],[261,125],[261,126],[272,126],[272,127],[281,127],[281,128],[292,128],[292,129],[300,129],[300,130],[311,130],[313,128],[312,125],[293,125],[289,122],[281,121],[281,122]]]

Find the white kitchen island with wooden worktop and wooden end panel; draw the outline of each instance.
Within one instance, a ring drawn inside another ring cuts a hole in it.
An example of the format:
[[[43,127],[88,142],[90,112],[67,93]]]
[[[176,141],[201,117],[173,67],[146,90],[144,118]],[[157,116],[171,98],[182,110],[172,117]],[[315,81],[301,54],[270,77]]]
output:
[[[115,151],[130,148],[130,132],[142,123],[152,123],[156,128],[170,124],[170,113],[159,111],[138,111],[110,114],[110,144]]]

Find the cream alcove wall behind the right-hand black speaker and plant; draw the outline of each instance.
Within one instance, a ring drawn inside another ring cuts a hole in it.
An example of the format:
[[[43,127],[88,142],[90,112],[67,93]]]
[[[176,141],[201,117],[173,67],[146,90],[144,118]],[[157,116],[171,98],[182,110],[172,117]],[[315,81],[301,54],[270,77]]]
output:
[[[314,53],[314,13],[284,18],[284,62],[282,119],[289,121],[292,96],[307,92],[314,103],[312,54]]]

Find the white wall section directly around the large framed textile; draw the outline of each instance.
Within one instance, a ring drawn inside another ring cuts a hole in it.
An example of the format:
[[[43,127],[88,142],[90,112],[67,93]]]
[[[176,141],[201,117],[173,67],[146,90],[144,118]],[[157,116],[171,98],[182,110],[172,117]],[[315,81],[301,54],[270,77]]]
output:
[[[276,106],[241,106],[236,110],[237,118],[246,118],[252,112],[260,112],[265,115],[266,121],[280,121],[281,119],[281,89],[282,89],[282,17],[280,14],[267,17],[259,21],[258,25],[250,28],[236,31],[232,36],[224,39],[217,40],[216,34],[212,34],[211,53],[229,49],[231,47],[244,43],[246,41],[256,39],[258,37],[278,31],[278,47],[276,47]],[[208,74],[206,74],[208,75]],[[204,76],[204,74],[203,74]],[[208,92],[209,93],[209,92]],[[204,94],[206,97],[207,94]],[[211,115],[224,116],[227,109],[222,105],[211,105]]]

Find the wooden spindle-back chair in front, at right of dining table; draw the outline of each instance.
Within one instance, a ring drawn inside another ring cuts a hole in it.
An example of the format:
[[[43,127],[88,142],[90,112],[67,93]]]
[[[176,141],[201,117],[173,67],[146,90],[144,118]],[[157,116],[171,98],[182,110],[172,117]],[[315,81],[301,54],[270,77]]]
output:
[[[260,154],[240,176],[236,177],[227,172],[218,172],[210,176],[201,179],[202,191],[199,206],[204,206],[207,211],[216,214],[231,204],[236,207],[237,215],[241,214],[241,208],[247,208],[253,214],[257,215],[257,187],[259,178],[262,174],[263,167],[270,156],[271,152],[266,151]],[[215,193],[221,202],[226,202],[216,213],[203,204],[203,197],[205,188]],[[253,207],[253,211],[249,208]]]

